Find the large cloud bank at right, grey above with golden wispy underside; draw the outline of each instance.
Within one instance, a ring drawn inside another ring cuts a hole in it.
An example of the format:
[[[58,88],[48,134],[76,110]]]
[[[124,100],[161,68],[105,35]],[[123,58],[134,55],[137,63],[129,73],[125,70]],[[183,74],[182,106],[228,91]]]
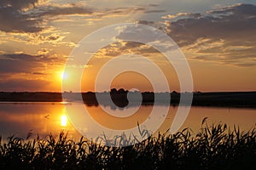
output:
[[[256,6],[236,4],[206,14],[166,15],[165,31],[191,59],[253,66],[256,54]]]

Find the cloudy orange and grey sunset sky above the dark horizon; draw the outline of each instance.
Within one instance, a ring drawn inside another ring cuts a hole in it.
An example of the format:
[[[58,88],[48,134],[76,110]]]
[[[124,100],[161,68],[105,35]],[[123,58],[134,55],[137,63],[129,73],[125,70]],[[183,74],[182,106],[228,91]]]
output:
[[[254,0],[1,0],[0,91],[61,92],[73,48],[90,33],[120,23],[153,26],[171,37],[189,62],[195,91],[256,91]],[[170,91],[179,91],[177,73],[158,51],[122,41],[84,65],[81,90],[95,91],[102,65],[129,53],[160,65]],[[115,77],[111,88],[149,91],[152,85],[131,71]]]

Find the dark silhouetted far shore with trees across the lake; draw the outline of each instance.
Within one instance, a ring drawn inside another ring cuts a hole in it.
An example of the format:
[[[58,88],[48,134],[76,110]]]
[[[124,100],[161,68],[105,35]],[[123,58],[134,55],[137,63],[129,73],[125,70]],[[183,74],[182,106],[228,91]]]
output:
[[[86,92],[82,93],[82,98],[85,105],[99,105],[96,99],[96,94],[106,97],[109,92],[94,93]],[[125,107],[129,104],[127,99],[128,91],[120,88],[119,90],[113,88],[110,92],[113,103],[119,107]],[[170,105],[187,105],[180,103],[180,93],[173,91],[172,93],[153,93],[153,92],[131,92],[131,96],[141,95],[142,105],[154,105],[155,95],[170,95]],[[189,94],[189,93],[184,93]],[[62,102],[62,95],[68,97],[67,101],[75,101],[81,98],[81,94],[65,92],[50,93],[50,92],[0,92],[0,102]],[[130,102],[133,105],[139,105],[140,102],[137,98],[130,98]],[[132,101],[133,99],[133,101]],[[65,99],[64,99],[65,100]],[[163,102],[164,103],[164,102]],[[109,98],[101,103],[102,105],[109,105]],[[165,103],[166,104],[166,103]],[[161,105],[161,102],[158,103]],[[247,107],[256,108],[256,92],[210,92],[210,93],[193,93],[192,105],[194,106],[219,106],[219,107]]]

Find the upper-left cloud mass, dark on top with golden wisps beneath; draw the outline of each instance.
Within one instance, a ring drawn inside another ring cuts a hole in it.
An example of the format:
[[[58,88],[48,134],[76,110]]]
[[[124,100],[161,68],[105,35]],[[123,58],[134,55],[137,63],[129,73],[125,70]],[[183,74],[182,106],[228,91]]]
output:
[[[0,3],[0,43],[8,47],[10,44],[17,44],[18,48],[26,44],[71,49],[76,45],[74,38],[72,41],[68,39],[73,37],[66,29],[71,22],[73,26],[88,26],[92,25],[94,20],[143,13],[150,8],[151,6],[135,6],[96,9],[88,7],[84,2],[52,3],[47,0],[24,0],[17,3],[15,0],[3,0]],[[56,23],[60,20],[69,23]],[[0,50],[3,50],[2,48]],[[47,52],[38,51],[38,54]]]

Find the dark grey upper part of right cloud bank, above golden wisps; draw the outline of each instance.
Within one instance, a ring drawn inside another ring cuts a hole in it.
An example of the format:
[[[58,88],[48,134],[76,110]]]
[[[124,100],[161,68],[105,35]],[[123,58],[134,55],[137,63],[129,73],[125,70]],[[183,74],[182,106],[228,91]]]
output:
[[[255,11],[256,6],[251,4],[220,8],[198,18],[167,21],[166,31],[179,45],[191,44],[199,38],[255,42]]]

